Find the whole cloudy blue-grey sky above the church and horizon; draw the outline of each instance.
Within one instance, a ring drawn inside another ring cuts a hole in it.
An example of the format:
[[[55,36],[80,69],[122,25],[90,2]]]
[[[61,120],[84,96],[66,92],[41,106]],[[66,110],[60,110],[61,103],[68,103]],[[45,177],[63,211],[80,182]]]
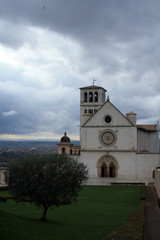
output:
[[[160,120],[159,0],[0,0],[0,139],[79,139],[79,88]]]

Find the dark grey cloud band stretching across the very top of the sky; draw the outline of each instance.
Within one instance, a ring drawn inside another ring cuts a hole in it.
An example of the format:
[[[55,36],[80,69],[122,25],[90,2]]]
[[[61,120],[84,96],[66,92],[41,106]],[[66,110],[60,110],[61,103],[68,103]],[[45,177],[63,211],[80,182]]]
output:
[[[87,44],[104,44],[108,38],[129,41],[151,36],[160,20],[159,8],[156,0],[5,0],[1,2],[0,14],[16,23],[49,27]]]

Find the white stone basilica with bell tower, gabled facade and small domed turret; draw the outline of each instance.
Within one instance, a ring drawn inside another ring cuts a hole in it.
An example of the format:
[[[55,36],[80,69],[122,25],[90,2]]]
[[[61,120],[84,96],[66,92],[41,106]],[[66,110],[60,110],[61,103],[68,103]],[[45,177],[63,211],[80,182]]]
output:
[[[80,88],[80,146],[67,133],[58,144],[89,169],[88,184],[154,182],[160,166],[158,123],[138,125],[136,113],[123,115],[103,87]]]

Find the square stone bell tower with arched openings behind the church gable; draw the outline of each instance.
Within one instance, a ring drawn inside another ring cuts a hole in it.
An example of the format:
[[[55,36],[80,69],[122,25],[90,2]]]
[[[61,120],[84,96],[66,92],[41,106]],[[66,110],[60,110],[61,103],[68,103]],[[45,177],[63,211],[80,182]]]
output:
[[[94,82],[93,82],[94,83]],[[102,87],[80,88],[80,126],[82,126],[105,103],[106,90]]]

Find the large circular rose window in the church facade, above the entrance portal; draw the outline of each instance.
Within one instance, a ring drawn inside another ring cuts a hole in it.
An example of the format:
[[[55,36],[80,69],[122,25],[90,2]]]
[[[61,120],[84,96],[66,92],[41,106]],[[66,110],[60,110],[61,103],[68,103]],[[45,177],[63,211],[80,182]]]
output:
[[[113,145],[116,139],[116,134],[112,130],[104,130],[100,133],[100,142],[105,146]]]

